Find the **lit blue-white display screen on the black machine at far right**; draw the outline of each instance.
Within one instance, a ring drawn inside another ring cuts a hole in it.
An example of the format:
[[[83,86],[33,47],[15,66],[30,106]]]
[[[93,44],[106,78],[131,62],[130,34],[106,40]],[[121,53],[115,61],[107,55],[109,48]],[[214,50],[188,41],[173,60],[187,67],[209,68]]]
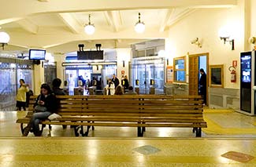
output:
[[[251,80],[251,53],[241,55],[241,82]]]

